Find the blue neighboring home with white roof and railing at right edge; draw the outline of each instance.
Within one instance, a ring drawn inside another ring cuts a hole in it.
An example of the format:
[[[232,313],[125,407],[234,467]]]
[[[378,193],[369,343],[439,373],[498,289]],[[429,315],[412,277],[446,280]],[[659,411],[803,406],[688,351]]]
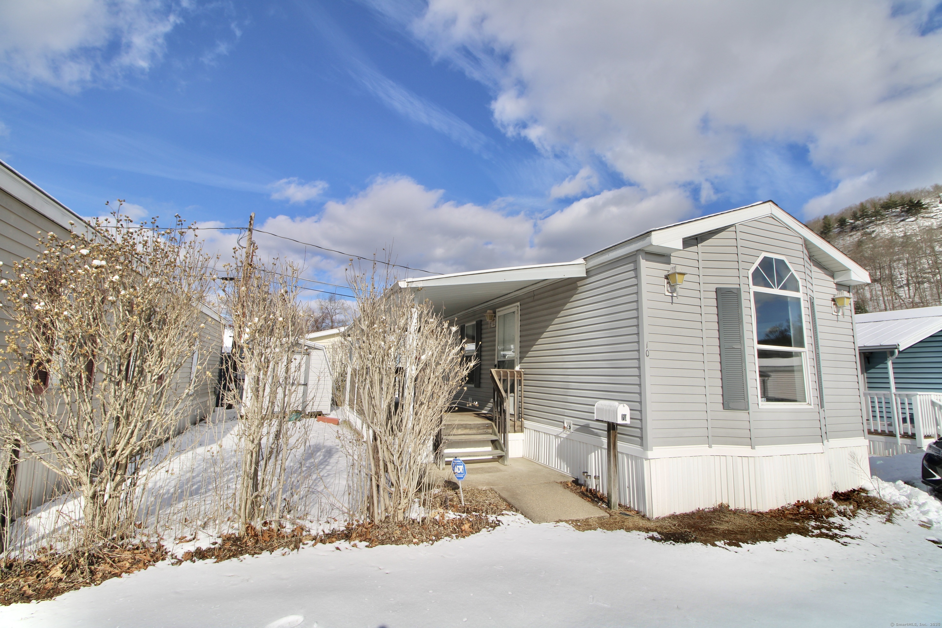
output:
[[[854,314],[853,321],[870,454],[924,450],[942,427],[942,307]]]

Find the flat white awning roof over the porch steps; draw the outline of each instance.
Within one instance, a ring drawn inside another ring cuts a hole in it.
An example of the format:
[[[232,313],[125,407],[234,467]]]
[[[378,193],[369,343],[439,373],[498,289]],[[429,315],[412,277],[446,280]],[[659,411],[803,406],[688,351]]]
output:
[[[510,298],[514,293],[537,284],[585,276],[585,260],[579,259],[560,264],[512,266],[406,279],[398,282],[397,288],[414,292],[418,302],[430,301],[436,311],[450,318],[501,298]]]

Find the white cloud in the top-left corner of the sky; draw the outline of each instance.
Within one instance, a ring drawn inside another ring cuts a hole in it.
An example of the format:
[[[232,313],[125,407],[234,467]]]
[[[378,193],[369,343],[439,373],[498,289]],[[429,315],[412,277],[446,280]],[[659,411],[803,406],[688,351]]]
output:
[[[0,3],[0,81],[78,89],[147,71],[180,22],[164,0]]]

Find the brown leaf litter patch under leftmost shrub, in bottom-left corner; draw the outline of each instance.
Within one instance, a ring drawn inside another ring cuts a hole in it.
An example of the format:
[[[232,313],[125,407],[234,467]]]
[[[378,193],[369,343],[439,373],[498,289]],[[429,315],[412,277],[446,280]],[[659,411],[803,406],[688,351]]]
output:
[[[94,547],[58,554],[41,552],[31,560],[0,563],[0,605],[49,600],[76,588],[147,569],[168,556],[160,545],[144,543]]]

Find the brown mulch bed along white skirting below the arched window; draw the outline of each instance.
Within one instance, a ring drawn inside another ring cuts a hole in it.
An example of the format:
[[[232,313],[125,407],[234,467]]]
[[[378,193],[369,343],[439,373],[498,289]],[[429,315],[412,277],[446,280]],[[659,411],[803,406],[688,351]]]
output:
[[[592,489],[563,484],[570,491],[609,512],[607,517],[569,522],[577,530],[627,530],[650,532],[648,539],[671,543],[703,543],[741,547],[774,541],[797,534],[803,537],[832,539],[843,543],[853,539],[841,518],[852,519],[861,512],[879,514],[891,521],[897,507],[887,504],[862,489],[835,492],[831,498],[796,502],[765,512],[733,509],[725,504],[683,514],[648,519],[637,510],[606,507],[607,497]]]

